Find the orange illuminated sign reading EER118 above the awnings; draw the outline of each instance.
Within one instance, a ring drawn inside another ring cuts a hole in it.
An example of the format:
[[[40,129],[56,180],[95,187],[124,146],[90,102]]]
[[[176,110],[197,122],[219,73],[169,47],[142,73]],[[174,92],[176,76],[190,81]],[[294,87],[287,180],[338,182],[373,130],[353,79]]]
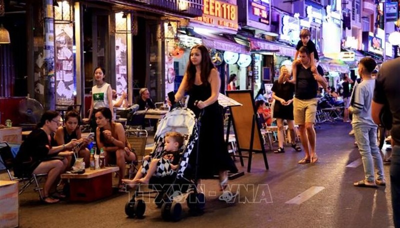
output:
[[[190,20],[237,31],[237,5],[219,0],[203,0],[203,5],[203,15]]]

